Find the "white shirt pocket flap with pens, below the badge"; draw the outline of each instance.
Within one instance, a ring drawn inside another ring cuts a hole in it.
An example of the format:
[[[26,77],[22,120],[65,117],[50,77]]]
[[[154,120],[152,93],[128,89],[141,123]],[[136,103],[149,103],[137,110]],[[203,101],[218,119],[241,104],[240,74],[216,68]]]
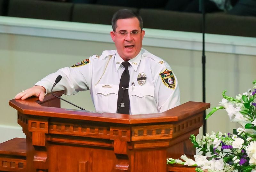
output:
[[[138,96],[138,97],[144,97],[144,96],[152,96],[154,97],[154,86],[134,86],[132,89],[132,86],[129,87],[129,97],[130,96]]]

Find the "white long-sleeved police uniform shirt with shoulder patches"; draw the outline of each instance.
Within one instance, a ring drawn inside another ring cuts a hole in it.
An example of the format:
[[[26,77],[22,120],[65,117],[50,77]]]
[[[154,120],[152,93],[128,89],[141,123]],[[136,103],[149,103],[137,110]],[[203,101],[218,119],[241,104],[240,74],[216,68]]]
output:
[[[96,111],[116,113],[119,82],[124,71],[124,66],[121,65],[123,61],[117,51],[103,51],[101,56],[93,55],[82,61],[83,64],[80,62],[72,67],[59,69],[35,85],[43,86],[46,93],[49,93],[56,77],[61,75],[62,79],[53,91],[64,90],[64,94],[71,95],[90,90]],[[159,113],[180,105],[177,78],[163,59],[141,49],[129,63],[130,114]],[[140,85],[137,80],[142,72],[147,78]],[[168,74],[172,77],[165,77]]]

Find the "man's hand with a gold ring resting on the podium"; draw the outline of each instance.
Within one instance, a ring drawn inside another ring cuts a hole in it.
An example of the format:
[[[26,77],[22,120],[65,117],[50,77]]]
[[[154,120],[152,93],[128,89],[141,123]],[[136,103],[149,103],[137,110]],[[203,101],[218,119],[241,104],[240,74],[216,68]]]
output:
[[[25,100],[26,98],[29,98],[31,96],[36,96],[39,98],[40,101],[44,100],[45,95],[45,88],[39,85],[36,85],[34,87],[31,87],[25,91],[20,92],[15,96],[15,99],[21,99]]]

